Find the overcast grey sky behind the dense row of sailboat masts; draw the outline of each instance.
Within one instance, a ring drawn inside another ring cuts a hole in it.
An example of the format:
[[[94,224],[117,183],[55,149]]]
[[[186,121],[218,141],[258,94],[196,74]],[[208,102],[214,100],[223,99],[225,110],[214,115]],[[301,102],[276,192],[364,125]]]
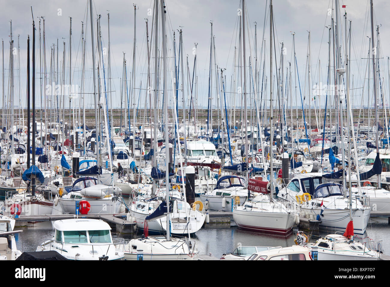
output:
[[[37,59],[37,77],[39,77],[39,17],[45,19],[46,31],[46,65],[47,72],[50,71],[50,53],[53,44],[59,42],[59,70],[62,70],[63,57],[63,42],[66,43],[65,55],[65,82],[69,83],[69,17],[72,17],[72,84],[81,85],[81,68],[82,68],[82,50],[81,50],[81,27],[82,21],[87,26],[87,41],[86,41],[86,74],[85,74],[85,93],[92,92],[92,54],[91,54],[91,39],[90,39],[90,20],[89,10],[87,10],[87,0],[69,0],[69,1],[4,1],[2,10],[0,11],[1,19],[1,37],[4,39],[5,49],[5,94],[8,94],[9,86],[9,39],[10,39],[10,20],[12,20],[12,36],[14,46],[17,47],[18,35],[20,35],[20,79],[18,71],[15,71],[15,87],[16,101],[19,94],[21,95],[22,105],[25,106],[26,94],[26,67],[27,67],[27,35],[32,37],[32,6],[34,20],[36,25],[36,59]],[[142,88],[145,89],[147,84],[147,53],[146,53],[146,24],[149,25],[149,41],[152,43],[152,56],[154,56],[154,35],[151,38],[152,21],[153,21],[153,0],[144,0],[135,3],[137,5],[137,47],[136,47],[136,62],[135,62],[135,86],[139,87],[142,80]],[[267,5],[267,7],[266,7]],[[274,26],[275,26],[275,43],[277,44],[277,65],[280,66],[280,49],[281,43],[285,47],[284,67],[292,61],[293,55],[293,36],[291,32],[295,32],[295,46],[298,62],[298,71],[300,73],[300,84],[303,95],[307,94],[307,80],[305,80],[307,72],[307,51],[308,51],[308,31],[310,31],[310,51],[311,51],[311,85],[316,83],[326,84],[326,72],[328,61],[328,29],[326,25],[331,24],[332,1],[310,1],[310,0],[280,0],[273,1],[274,11]],[[341,5],[346,5],[342,8]],[[209,80],[209,54],[210,54],[210,22],[213,22],[213,35],[215,36],[216,61],[220,68],[225,68],[224,71],[227,77],[226,89],[231,89],[231,79],[234,67],[234,47],[238,46],[238,9],[241,7],[241,1],[238,0],[215,0],[215,1],[188,1],[188,0],[167,0],[167,34],[168,34],[168,65],[170,81],[174,75],[174,50],[173,50],[173,32],[176,32],[176,44],[179,52],[179,33],[178,29],[183,30],[183,47],[184,47],[184,70],[187,72],[186,55],[188,55],[189,70],[192,78],[193,70],[193,48],[194,43],[197,43],[197,76],[198,80],[198,103],[199,105],[207,106],[208,80]],[[258,39],[258,59],[263,61],[264,57],[260,57],[261,39],[264,29],[264,16],[266,13],[265,27],[265,76],[269,78],[269,1],[266,4],[265,0],[261,1],[246,1],[246,64],[250,55],[254,54],[254,22],[257,22],[257,39]],[[134,8],[133,3],[129,1],[93,1],[94,9],[94,32],[95,32],[95,49],[96,49],[96,16],[101,15],[101,33],[102,46],[108,48],[108,27],[107,13],[110,13],[110,42],[111,42],[111,60],[112,60],[112,103],[114,107],[120,106],[121,99],[121,82],[123,53],[126,56],[126,68],[128,81],[130,81],[131,70],[133,65],[133,38],[134,38]],[[266,9],[266,10],[265,10]],[[342,43],[344,47],[344,11],[347,12],[348,21],[352,21],[352,38],[351,38],[351,77],[354,79],[354,88],[363,87],[365,74],[369,39],[371,37],[370,10],[368,0],[342,0],[340,1],[340,15],[342,23]],[[160,12],[160,10],[159,10]],[[387,76],[387,56],[388,41],[389,41],[389,18],[390,3],[385,0],[374,0],[374,23],[381,25],[380,32],[380,69],[381,77],[384,77],[385,82],[384,93],[388,97],[388,76]],[[161,13],[159,14],[159,21]],[[43,22],[41,21],[41,29],[43,34]],[[161,49],[161,24],[159,26],[159,50]],[[154,32],[153,32],[154,34]],[[57,46],[55,47],[57,49]],[[343,52],[344,53],[344,52]],[[176,54],[177,56],[177,54]],[[275,73],[275,54],[273,53],[273,70]],[[344,59],[344,56],[343,56]],[[18,66],[18,55],[15,55],[15,68]],[[321,61],[319,69],[318,62]],[[107,56],[103,56],[104,64],[107,64]],[[154,69],[154,60],[151,59],[151,71]],[[262,64],[259,68],[262,69]],[[180,67],[181,68],[181,67]],[[105,66],[106,69],[106,66]],[[236,71],[238,73],[238,71]],[[285,71],[284,71],[285,73]],[[260,73],[262,76],[262,71]],[[275,74],[276,75],[276,74]],[[50,75],[48,75],[50,77]],[[61,78],[60,73],[60,78]],[[107,75],[106,75],[107,77]],[[187,94],[187,77],[184,74],[184,89]],[[372,77],[372,75],[371,75]],[[20,84],[19,84],[20,80]],[[153,77],[152,77],[153,81]],[[215,77],[214,77],[215,81]],[[48,80],[49,82],[49,80]],[[19,85],[21,86],[19,93]],[[39,80],[37,88],[39,88]],[[129,89],[130,82],[128,82]],[[367,83],[365,84],[367,86]],[[215,86],[215,83],[213,84]],[[249,86],[249,84],[248,84]],[[306,88],[305,88],[306,87]],[[141,94],[139,107],[144,106],[146,91],[136,89],[133,95],[134,102],[138,101],[139,93]],[[43,90],[44,91],[44,90]],[[367,91],[363,91],[367,93]],[[362,89],[355,89],[353,102],[360,106]],[[37,91],[37,106],[39,107],[41,97]],[[227,96],[227,101],[232,104],[231,94]],[[295,97],[295,95],[293,95]],[[323,99],[321,99],[322,101]],[[79,100],[76,100],[78,102]],[[85,101],[92,107],[92,96],[87,94]],[[365,100],[366,101],[366,100]],[[66,101],[67,102],[67,101]],[[110,102],[109,102],[110,103]],[[294,100],[293,100],[294,103]],[[2,104],[2,103],[0,103]],[[180,104],[181,107],[181,104]]]

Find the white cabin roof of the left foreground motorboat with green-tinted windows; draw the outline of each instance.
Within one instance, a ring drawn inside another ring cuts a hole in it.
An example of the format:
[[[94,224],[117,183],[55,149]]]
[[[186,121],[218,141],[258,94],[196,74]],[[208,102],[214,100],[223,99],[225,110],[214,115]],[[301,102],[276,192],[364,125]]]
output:
[[[101,219],[56,220],[53,226],[60,231],[111,230],[110,225]]]

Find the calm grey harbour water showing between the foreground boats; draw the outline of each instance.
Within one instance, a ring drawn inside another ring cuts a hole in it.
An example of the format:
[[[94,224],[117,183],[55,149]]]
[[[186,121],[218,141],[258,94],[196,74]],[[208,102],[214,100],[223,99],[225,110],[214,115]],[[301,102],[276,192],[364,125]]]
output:
[[[223,225],[221,225],[223,226]],[[54,235],[53,223],[42,222],[35,225],[35,227],[15,228],[15,230],[22,229],[23,232],[16,235],[16,246],[20,251],[35,251],[37,246],[41,245],[46,239],[52,239]],[[205,225],[200,229],[191,239],[196,241],[199,254],[212,253],[213,256],[220,258],[223,253],[232,252],[241,243],[242,246],[292,246],[298,228],[294,227],[293,232],[286,237],[280,235],[262,234],[259,232],[252,232],[248,230],[239,229],[236,226],[223,228],[209,228]],[[332,233],[331,230],[320,230],[316,235],[327,235]],[[117,234],[112,231],[113,237],[123,237],[124,239],[132,239],[141,237],[138,234]],[[360,238],[367,241],[370,237],[373,240],[382,240],[381,246],[383,254],[390,255],[390,226],[388,225],[387,217],[373,217],[371,218],[366,233]],[[359,239],[355,237],[355,239]]]

